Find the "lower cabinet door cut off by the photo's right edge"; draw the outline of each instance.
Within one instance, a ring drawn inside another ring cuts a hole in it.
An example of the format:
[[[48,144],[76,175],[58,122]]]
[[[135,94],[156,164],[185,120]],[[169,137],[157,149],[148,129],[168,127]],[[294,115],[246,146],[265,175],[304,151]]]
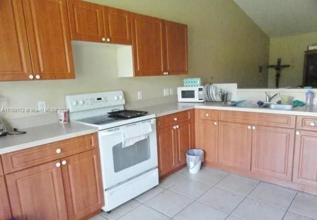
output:
[[[317,187],[317,132],[300,131],[295,138],[293,181]]]

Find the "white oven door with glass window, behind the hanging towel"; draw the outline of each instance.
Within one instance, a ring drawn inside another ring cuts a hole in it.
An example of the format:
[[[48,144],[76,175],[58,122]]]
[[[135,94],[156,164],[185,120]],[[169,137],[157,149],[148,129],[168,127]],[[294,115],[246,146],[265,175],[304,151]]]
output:
[[[105,189],[158,167],[156,119],[129,125],[144,122],[151,123],[152,132],[147,138],[127,147],[122,147],[120,127],[99,132]]]

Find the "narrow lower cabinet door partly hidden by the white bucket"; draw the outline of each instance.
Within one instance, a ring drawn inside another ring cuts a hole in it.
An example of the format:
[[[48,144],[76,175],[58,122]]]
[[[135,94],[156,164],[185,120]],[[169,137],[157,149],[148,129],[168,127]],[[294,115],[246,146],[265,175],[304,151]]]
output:
[[[186,164],[186,152],[192,148],[192,121],[186,121],[178,124],[177,145],[176,145],[176,165],[180,167]]]

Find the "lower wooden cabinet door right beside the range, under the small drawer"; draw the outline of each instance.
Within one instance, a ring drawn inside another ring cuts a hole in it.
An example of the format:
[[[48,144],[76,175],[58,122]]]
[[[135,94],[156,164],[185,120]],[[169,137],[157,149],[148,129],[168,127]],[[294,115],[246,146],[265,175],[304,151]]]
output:
[[[159,176],[163,176],[176,168],[176,130],[170,126],[157,131]]]

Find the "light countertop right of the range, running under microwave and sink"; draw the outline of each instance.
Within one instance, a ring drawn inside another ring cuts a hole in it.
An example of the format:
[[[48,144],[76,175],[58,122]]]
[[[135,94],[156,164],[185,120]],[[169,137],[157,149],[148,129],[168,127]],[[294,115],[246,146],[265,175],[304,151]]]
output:
[[[199,102],[172,102],[160,105],[153,105],[143,107],[137,110],[148,111],[156,114],[157,117],[169,115],[190,109],[213,109],[213,110],[227,110],[227,111],[242,111],[242,112],[258,112],[268,114],[282,114],[282,115],[299,115],[317,117],[317,106],[302,106],[295,107],[292,110],[273,110],[266,108],[244,108],[234,106],[223,106],[218,103],[199,103]]]

